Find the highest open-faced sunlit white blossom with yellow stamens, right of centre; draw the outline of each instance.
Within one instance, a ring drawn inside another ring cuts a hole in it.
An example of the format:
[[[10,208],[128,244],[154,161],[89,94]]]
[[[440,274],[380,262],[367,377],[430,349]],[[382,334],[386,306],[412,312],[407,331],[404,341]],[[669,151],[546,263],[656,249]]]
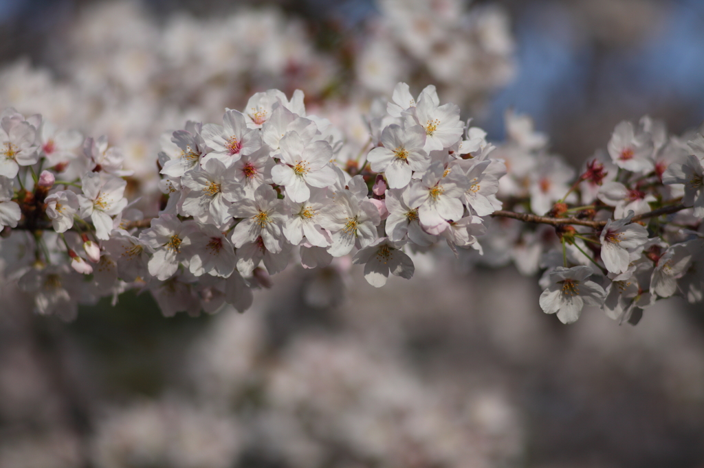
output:
[[[415,108],[415,117],[409,114],[406,125],[420,124],[425,129],[425,152],[442,150],[457,143],[464,131],[460,108],[452,103],[437,105],[428,94],[422,93]]]

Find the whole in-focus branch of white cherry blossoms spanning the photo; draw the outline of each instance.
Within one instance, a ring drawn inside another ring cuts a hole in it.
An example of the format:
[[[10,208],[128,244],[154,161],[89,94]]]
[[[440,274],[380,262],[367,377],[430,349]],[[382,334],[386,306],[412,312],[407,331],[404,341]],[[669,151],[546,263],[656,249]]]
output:
[[[529,118],[509,114],[509,140],[496,147],[434,86],[414,96],[398,83],[367,122],[370,143],[352,158],[341,131],[306,113],[302,91],[255,93],[222,125],[189,121],[162,138],[162,197],[145,215],[125,197],[132,173],[106,138],[81,145],[76,132],[6,110],[6,277],[39,313],[67,319],[132,288],[151,291],[167,316],[244,311],[252,288],[292,261],[347,257],[381,287],[411,278],[413,257],[444,241],[455,255],[544,268],[540,305],[565,323],[585,304],[636,323],[659,298],[702,298],[703,136],[624,122],[573,180]]]

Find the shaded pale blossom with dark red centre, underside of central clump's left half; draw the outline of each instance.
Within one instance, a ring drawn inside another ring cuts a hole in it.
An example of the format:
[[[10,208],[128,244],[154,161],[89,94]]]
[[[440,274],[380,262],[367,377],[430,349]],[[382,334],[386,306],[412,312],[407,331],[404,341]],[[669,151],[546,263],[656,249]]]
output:
[[[227,278],[234,271],[234,248],[227,235],[215,226],[203,224],[194,230],[191,239],[189,269],[196,276],[203,273]]]

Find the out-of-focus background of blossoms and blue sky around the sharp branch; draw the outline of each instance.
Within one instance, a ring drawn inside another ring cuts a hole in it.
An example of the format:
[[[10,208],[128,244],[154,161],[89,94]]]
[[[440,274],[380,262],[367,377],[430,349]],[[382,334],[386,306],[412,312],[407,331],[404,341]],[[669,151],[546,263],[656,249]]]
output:
[[[108,135],[134,194],[163,132],[272,87],[353,154],[398,81],[493,141],[527,112],[575,166],[624,119],[704,119],[696,0],[0,0],[0,25],[0,108]],[[197,318],[129,292],[65,324],[4,291],[0,467],[704,467],[701,306],[565,326],[512,266],[414,260],[382,290],[289,268]]]

